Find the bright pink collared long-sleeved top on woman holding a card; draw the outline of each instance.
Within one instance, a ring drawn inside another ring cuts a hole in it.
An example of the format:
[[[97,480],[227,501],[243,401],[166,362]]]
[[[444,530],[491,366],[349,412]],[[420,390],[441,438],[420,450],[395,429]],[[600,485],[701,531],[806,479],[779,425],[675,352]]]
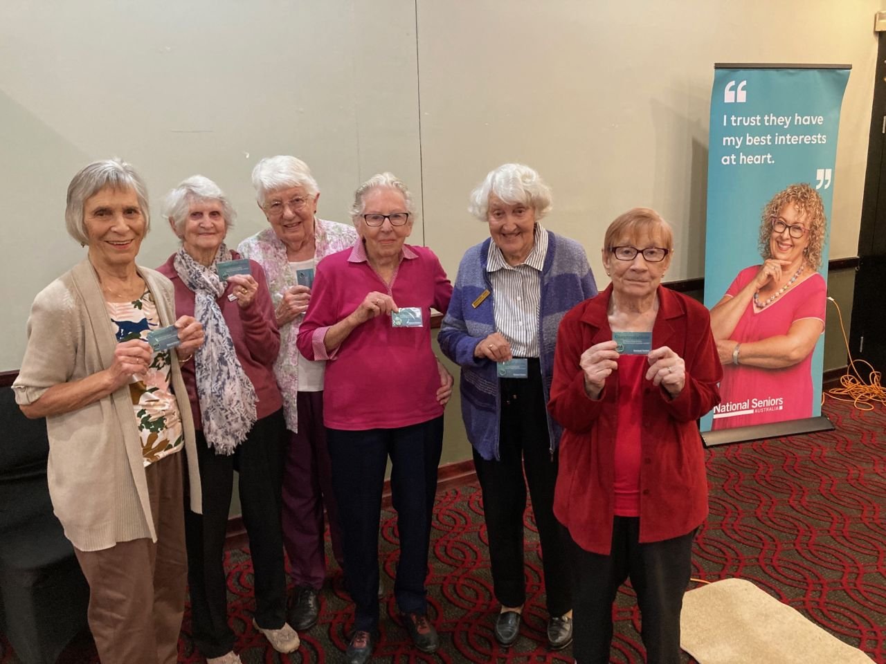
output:
[[[323,338],[354,312],[366,295],[389,292],[398,307],[422,310],[421,328],[393,328],[377,316],[354,328],[330,352]],[[446,313],[452,284],[433,251],[403,245],[402,259],[388,285],[366,259],[361,241],[316,267],[311,303],[299,326],[299,351],[307,359],[329,359],[323,390],[323,423],[330,429],[395,429],[443,414],[437,402],[437,359],[431,350],[431,306]]]

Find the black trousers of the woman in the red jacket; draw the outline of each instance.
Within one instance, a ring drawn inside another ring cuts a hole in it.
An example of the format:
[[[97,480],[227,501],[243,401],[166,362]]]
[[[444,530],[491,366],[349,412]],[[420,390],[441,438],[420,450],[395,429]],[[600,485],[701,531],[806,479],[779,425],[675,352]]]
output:
[[[608,664],[612,603],[630,577],[642,617],[641,637],[648,664],[680,664],[680,610],[692,569],[696,530],[639,544],[640,519],[617,516],[610,555],[587,552],[570,537],[575,576],[575,641],[578,664]]]

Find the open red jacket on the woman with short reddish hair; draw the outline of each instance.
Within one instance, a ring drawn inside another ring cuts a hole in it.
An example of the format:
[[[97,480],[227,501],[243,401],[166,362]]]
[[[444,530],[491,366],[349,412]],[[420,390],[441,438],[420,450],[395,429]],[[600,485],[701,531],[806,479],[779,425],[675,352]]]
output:
[[[554,513],[581,548],[602,555],[609,555],[612,540],[618,379],[610,377],[599,400],[587,398],[579,357],[612,338],[606,313],[611,293],[610,285],[563,317],[548,404],[565,429]],[[723,375],[708,310],[662,287],[652,328],[652,347],[660,346],[684,360],[686,385],[674,399],[652,382],[643,391],[641,543],[686,535],[707,516],[708,485],[696,420],[719,403],[717,383]]]

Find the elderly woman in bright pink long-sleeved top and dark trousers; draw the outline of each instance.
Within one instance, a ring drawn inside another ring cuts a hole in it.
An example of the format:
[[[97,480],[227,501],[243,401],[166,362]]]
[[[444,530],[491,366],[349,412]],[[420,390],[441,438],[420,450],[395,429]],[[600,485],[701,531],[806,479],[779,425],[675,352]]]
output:
[[[427,617],[431,513],[443,444],[443,407],[452,376],[431,351],[431,307],[452,295],[439,259],[405,244],[414,208],[390,173],[357,189],[354,246],[323,259],[299,328],[299,351],[328,359],[323,421],[345,544],[345,573],[356,612],[346,661],[369,660],[378,629],[378,526],[385,465],[392,461],[400,561],[394,595],[416,647],[434,652]]]

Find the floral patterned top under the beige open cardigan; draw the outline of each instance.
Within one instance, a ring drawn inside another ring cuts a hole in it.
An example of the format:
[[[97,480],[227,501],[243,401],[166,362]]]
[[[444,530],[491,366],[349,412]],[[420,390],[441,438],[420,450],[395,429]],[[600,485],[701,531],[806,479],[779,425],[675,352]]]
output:
[[[133,302],[105,302],[105,309],[118,344],[144,339],[149,330],[159,328],[157,307],[149,290]],[[184,446],[182,418],[169,387],[171,361],[169,351],[153,353],[148,370],[133,376],[129,383],[145,467]]]

